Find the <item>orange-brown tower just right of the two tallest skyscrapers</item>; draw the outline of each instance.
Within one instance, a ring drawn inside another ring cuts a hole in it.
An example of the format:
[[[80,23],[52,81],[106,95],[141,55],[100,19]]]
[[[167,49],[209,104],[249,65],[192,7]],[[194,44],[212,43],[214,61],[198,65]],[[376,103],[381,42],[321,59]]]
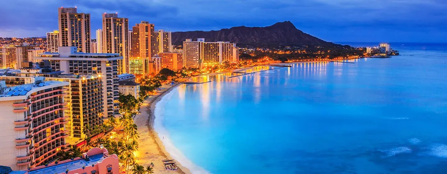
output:
[[[131,57],[154,57],[155,47],[155,30],[154,25],[147,21],[141,21],[132,27],[132,54]]]

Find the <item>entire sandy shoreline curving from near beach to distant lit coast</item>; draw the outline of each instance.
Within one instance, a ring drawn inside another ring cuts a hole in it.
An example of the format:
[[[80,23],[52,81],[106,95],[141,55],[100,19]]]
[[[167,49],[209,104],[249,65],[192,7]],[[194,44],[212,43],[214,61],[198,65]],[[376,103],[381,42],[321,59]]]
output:
[[[361,59],[361,58],[356,58],[356,59]],[[349,60],[349,59],[344,59],[344,60]],[[222,74],[222,73],[240,72],[240,71],[245,71],[247,69],[258,67],[258,66],[299,64],[299,63],[312,63],[312,62],[329,62],[329,61],[330,60],[323,60],[323,61],[317,60],[317,61],[285,62],[285,63],[255,65],[255,66],[251,66],[251,67],[234,69],[229,72],[213,72],[213,73],[209,73],[209,74],[192,76],[192,77],[188,77],[186,80],[192,81],[193,78],[198,78],[201,76],[213,76],[213,75],[218,75],[218,74]],[[138,142],[139,142],[138,157],[141,157],[142,159],[144,159],[144,160],[138,160],[138,158],[137,158],[137,162],[139,162],[139,164],[143,165],[143,166],[149,166],[149,164],[151,162],[153,162],[155,173],[192,174],[190,169],[181,165],[180,161],[176,160],[179,170],[164,170],[164,167],[160,168],[160,166],[163,165],[162,162],[156,161],[156,160],[162,160],[165,158],[173,159],[172,155],[166,150],[166,147],[164,146],[163,141],[160,140],[160,137],[158,136],[158,132],[156,132],[156,130],[154,129],[156,104],[158,102],[160,102],[160,100],[164,97],[164,95],[166,95],[167,93],[172,91],[174,88],[178,87],[178,85],[182,85],[182,84],[177,83],[176,85],[173,85],[173,86],[162,86],[167,89],[164,90],[162,93],[157,94],[156,96],[146,98],[146,100],[144,100],[143,104],[141,105],[141,108],[140,108],[141,113],[137,114],[134,119],[135,124],[137,124],[138,132],[139,132],[139,136],[140,136],[140,138],[138,140]],[[137,119],[139,119],[139,120],[137,120]],[[154,146],[154,147],[152,147],[152,149],[151,149],[151,147],[145,147],[145,146]],[[148,150],[148,149],[144,149],[144,148],[150,148],[152,153],[147,153],[147,152],[141,153],[140,151],[142,151],[142,149]],[[153,151],[155,151],[158,154],[155,154]]]

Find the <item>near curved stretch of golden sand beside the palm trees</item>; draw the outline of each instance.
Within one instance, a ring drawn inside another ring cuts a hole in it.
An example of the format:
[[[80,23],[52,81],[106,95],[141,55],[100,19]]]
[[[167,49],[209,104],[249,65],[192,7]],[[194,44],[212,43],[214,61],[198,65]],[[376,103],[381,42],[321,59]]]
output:
[[[177,84],[179,85],[179,84]],[[161,97],[172,90],[175,86],[163,85],[162,88],[166,90],[157,93],[155,96],[148,97],[140,107],[139,114],[135,115],[134,122],[138,127],[138,152],[135,152],[139,165],[150,166],[151,162],[154,163],[154,172],[156,174],[190,174],[190,171],[181,166],[177,162],[177,166],[180,170],[165,170],[163,162],[166,158],[172,159],[169,153],[166,152],[163,143],[157,136],[157,133],[153,129],[154,125],[154,110],[155,104]]]

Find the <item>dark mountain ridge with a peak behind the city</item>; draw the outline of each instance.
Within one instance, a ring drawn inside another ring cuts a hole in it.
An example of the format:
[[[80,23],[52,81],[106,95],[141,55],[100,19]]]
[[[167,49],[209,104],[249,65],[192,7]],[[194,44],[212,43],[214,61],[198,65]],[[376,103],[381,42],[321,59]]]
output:
[[[179,31],[172,33],[173,44],[182,45],[186,38],[205,38],[206,42],[234,42],[238,46],[313,45],[322,47],[341,46],[326,42],[298,30],[291,21],[277,22],[264,27],[234,26],[211,31]]]

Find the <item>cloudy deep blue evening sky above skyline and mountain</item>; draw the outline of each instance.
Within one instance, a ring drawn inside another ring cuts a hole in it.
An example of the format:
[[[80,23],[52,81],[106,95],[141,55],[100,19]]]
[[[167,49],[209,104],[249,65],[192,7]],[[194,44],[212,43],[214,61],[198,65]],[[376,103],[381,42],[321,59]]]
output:
[[[168,31],[220,30],[291,21],[329,42],[447,42],[447,0],[0,0],[0,37],[38,37],[58,30],[58,8],[102,13]],[[95,37],[95,34],[92,34]]]

